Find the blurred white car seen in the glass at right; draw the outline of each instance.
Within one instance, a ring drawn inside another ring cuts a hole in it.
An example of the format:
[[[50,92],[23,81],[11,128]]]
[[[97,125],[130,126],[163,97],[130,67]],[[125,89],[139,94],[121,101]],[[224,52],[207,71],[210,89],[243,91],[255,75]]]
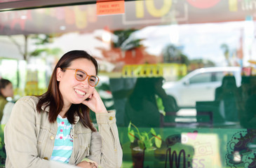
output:
[[[195,107],[198,101],[214,101],[215,89],[226,75],[234,75],[236,86],[241,85],[241,67],[225,66],[196,69],[178,81],[163,83],[163,89],[178,106]]]

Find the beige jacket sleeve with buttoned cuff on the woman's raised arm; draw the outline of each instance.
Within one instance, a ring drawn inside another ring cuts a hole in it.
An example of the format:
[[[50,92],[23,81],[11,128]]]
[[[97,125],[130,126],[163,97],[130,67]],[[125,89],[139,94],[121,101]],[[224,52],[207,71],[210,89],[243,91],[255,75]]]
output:
[[[123,151],[119,141],[114,111],[96,113],[99,132],[93,132],[90,143],[90,155],[103,168],[121,167]]]

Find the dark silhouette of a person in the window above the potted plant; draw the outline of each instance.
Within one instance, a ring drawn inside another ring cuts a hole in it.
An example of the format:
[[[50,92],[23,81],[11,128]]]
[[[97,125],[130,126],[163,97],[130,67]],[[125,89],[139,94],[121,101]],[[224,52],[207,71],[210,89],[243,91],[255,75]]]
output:
[[[163,78],[137,78],[125,106],[125,124],[130,121],[138,127],[159,127],[161,110],[178,111],[172,97],[163,90]],[[157,98],[161,99],[162,109],[159,109]],[[173,120],[172,118],[168,118]]]

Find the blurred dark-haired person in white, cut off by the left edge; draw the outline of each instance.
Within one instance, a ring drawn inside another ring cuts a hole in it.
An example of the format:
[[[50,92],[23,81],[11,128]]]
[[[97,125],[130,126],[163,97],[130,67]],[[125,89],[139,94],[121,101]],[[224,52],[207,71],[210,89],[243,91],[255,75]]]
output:
[[[11,116],[14,103],[8,102],[7,97],[13,97],[13,84],[10,80],[0,79],[0,120],[5,125]]]

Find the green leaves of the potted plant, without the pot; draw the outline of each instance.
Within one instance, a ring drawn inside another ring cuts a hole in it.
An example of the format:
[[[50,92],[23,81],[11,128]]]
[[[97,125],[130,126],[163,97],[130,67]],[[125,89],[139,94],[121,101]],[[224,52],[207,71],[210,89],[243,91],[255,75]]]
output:
[[[131,127],[135,128],[135,131]],[[135,139],[137,140],[138,146],[142,150],[151,150],[154,148],[154,144],[157,148],[161,148],[162,139],[161,135],[156,135],[156,132],[153,128],[151,128],[150,132],[140,132],[140,130],[130,122],[128,125],[128,137],[130,139],[130,142],[134,142]]]

